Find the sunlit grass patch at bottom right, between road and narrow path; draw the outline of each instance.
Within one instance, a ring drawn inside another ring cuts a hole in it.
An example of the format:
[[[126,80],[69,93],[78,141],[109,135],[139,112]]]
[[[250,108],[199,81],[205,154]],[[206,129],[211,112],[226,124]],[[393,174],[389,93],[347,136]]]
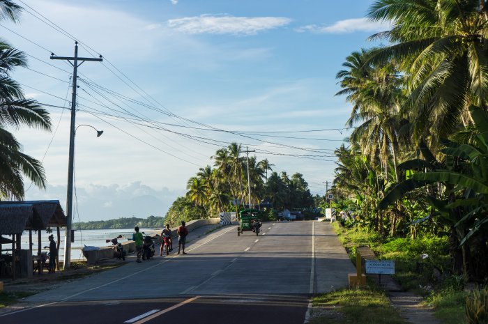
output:
[[[344,288],[312,299],[310,324],[406,324],[383,291]]]

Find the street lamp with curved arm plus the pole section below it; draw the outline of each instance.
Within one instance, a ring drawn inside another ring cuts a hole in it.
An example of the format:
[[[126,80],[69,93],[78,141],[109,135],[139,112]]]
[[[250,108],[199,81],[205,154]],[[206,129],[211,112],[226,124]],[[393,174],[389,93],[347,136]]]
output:
[[[72,119],[72,125],[74,123],[74,118]],[[68,194],[66,198],[66,231],[64,232],[64,258],[63,258],[63,269],[66,270],[70,268],[71,265],[71,223],[73,221],[73,176],[74,176],[74,162],[75,162],[75,134],[76,130],[80,126],[88,126],[96,130],[97,137],[103,134],[103,130],[97,130],[91,125],[78,125],[75,130],[70,133],[70,155],[68,159]]]

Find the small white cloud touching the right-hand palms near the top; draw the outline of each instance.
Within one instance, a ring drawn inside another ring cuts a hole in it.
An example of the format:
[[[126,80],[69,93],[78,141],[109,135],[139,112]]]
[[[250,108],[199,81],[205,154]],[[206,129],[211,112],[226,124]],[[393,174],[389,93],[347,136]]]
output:
[[[390,28],[391,24],[389,22],[373,22],[367,18],[354,18],[339,20],[331,26],[316,24],[302,26],[296,29],[296,31],[310,31],[312,33],[354,33],[356,31],[386,31]]]

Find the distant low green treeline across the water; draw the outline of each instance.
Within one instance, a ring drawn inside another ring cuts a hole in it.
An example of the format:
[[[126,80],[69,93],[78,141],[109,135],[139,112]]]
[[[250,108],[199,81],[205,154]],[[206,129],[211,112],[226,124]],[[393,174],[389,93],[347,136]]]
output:
[[[73,224],[74,229],[133,229],[160,228],[165,224],[165,217],[149,216],[146,219],[137,217],[121,217],[118,219],[98,220],[91,222],[78,222]]]

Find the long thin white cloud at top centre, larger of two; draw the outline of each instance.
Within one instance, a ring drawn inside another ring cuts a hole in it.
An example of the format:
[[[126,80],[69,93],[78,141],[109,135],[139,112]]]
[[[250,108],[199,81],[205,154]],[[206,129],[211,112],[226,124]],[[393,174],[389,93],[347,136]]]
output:
[[[200,15],[168,20],[168,26],[183,33],[217,33],[255,35],[286,26],[291,20],[286,17],[233,17],[229,15]]]

